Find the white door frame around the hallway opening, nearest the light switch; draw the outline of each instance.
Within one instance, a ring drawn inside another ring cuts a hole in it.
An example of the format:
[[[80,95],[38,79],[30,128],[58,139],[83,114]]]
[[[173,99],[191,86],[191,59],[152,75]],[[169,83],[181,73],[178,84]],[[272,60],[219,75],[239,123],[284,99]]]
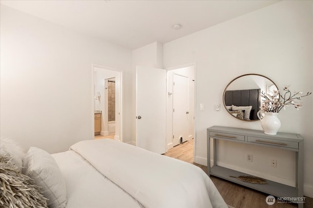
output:
[[[169,73],[170,71],[172,70],[176,70],[176,69],[181,69],[181,68],[185,68],[185,67],[190,67],[190,66],[193,66],[194,67],[194,99],[193,99],[193,104],[194,104],[194,116],[196,117],[196,100],[197,100],[197,80],[196,80],[196,77],[197,77],[197,64],[196,62],[193,62],[193,63],[187,63],[187,64],[182,64],[182,65],[178,65],[178,66],[173,66],[173,67],[168,67],[166,68],[166,71],[167,73]],[[167,80],[167,86],[168,86],[168,81]],[[167,94],[171,93],[169,92],[169,89],[166,88],[166,91],[167,91]],[[173,106],[171,107],[170,109],[170,106],[168,105],[168,96],[167,95],[167,99],[166,99],[166,111],[169,112],[173,110]],[[197,132],[196,132],[196,121],[197,119],[194,119],[194,124],[193,124],[193,129],[194,129],[194,155],[193,155],[193,161],[195,162],[195,157],[196,157],[196,144],[197,144]],[[173,120],[169,119],[169,115],[167,113],[167,116],[166,116],[166,126],[168,127],[168,123],[172,122],[172,126],[173,126]],[[169,139],[172,138],[172,135],[173,135],[173,127],[172,129],[168,129],[166,130],[166,141],[169,141]],[[166,151],[168,151],[168,143],[166,142]]]

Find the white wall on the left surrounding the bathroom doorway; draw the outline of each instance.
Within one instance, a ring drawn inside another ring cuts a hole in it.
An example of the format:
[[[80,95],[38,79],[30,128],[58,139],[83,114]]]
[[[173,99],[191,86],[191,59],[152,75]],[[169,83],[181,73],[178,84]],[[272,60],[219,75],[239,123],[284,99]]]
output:
[[[1,137],[50,153],[93,139],[95,63],[123,70],[124,140],[131,140],[132,52],[0,7]]]

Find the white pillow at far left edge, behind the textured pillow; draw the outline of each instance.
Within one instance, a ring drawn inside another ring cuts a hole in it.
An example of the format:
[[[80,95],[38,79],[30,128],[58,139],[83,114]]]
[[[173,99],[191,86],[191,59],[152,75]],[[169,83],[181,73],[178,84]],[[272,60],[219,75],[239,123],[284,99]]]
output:
[[[20,172],[22,172],[25,152],[18,143],[9,138],[0,138],[0,153],[12,156],[12,162],[19,168]]]

